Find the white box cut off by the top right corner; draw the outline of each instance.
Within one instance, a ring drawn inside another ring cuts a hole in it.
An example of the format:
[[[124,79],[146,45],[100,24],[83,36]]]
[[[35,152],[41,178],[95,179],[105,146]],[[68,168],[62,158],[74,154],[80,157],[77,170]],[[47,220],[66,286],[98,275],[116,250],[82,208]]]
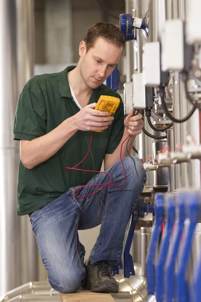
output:
[[[201,1],[186,0],[186,42],[201,43]]]

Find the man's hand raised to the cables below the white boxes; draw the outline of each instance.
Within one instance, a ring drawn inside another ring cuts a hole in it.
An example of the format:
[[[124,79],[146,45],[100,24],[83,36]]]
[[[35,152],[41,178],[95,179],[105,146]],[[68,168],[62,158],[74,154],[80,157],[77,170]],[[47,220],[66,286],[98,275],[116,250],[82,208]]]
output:
[[[126,127],[128,134],[135,136],[140,134],[143,128],[142,114],[138,113],[137,115],[133,116],[132,109],[124,120],[124,126]]]

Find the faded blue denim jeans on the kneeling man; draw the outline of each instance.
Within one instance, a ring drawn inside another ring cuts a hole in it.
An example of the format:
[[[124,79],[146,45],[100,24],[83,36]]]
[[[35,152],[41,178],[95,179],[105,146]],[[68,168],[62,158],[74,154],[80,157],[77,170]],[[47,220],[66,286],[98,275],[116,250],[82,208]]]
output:
[[[96,195],[75,199],[74,190],[77,187],[70,188],[45,207],[32,213],[32,230],[48,272],[49,283],[55,290],[75,292],[84,281],[84,252],[77,230],[86,230],[102,224],[89,260],[91,264],[104,260],[119,262],[129,217],[137,206],[146,182],[146,172],[141,161],[135,157],[133,159],[138,177],[132,159],[124,158],[126,182],[121,187],[108,186],[98,192],[104,203],[104,206],[99,203],[98,214]],[[111,184],[118,185],[123,182],[124,174],[120,161],[107,172],[112,175]],[[95,176],[97,184],[107,183],[109,179],[110,177],[103,173]],[[94,178],[87,184],[94,184]],[[76,191],[76,196],[85,196],[92,192],[93,187],[84,187]]]

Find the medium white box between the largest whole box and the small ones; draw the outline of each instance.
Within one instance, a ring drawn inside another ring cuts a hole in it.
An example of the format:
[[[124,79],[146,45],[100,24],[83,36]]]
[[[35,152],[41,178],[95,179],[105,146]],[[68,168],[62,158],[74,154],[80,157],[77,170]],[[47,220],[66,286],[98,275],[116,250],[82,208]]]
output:
[[[145,43],[143,47],[144,84],[148,87],[160,85],[160,43]]]

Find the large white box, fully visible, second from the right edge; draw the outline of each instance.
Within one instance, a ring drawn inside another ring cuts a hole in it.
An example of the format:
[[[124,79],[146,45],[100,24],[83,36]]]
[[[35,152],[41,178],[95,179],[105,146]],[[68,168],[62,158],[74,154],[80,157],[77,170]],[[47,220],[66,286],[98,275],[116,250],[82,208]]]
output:
[[[161,69],[182,70],[184,68],[184,29],[183,21],[167,20],[161,35],[162,56]]]

